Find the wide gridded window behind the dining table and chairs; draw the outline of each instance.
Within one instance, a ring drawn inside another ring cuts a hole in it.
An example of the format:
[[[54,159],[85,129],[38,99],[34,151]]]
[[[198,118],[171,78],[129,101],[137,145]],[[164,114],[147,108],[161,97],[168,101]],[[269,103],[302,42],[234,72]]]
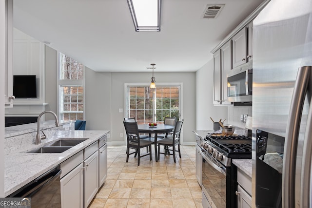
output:
[[[127,85],[127,84],[126,84]],[[153,121],[153,105],[155,121],[163,123],[165,117],[181,117],[180,85],[157,84],[151,89],[149,85],[126,86],[126,117],[136,117],[139,124]]]

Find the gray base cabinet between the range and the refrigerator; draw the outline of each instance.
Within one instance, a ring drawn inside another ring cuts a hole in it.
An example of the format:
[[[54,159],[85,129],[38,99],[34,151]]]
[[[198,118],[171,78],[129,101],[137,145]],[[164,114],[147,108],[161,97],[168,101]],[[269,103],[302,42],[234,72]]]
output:
[[[237,169],[237,208],[252,207],[252,179],[242,170]]]

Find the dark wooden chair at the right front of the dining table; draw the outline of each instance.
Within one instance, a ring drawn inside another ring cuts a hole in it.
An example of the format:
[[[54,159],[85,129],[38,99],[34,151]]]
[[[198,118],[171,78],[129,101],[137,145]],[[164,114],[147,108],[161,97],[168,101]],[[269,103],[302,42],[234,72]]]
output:
[[[173,137],[165,137],[163,139],[160,139],[157,141],[158,144],[158,159],[160,154],[171,154],[174,156],[174,161],[176,162],[176,151],[179,152],[179,157],[181,158],[181,151],[180,151],[180,135],[181,135],[181,129],[182,124],[184,120],[177,121],[176,127],[173,132]],[[164,152],[160,152],[160,146],[164,146]],[[176,150],[177,146],[177,150]],[[169,149],[169,147],[172,147],[172,149]],[[172,151],[172,153],[170,153]]]

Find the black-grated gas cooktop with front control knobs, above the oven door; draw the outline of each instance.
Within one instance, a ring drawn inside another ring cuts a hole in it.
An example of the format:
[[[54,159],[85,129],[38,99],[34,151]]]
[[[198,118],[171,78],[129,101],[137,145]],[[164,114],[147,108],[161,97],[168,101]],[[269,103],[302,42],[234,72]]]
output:
[[[206,156],[226,167],[231,166],[232,159],[252,158],[252,138],[247,136],[207,134],[200,146]]]

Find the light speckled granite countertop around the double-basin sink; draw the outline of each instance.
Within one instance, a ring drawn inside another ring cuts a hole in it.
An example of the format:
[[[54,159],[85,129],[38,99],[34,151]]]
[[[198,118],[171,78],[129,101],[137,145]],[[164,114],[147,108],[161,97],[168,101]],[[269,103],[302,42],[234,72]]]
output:
[[[109,131],[66,131],[64,135],[42,140],[41,145],[29,144],[25,147],[7,151],[4,155],[4,195],[7,196],[33,181],[46,171],[97,141]],[[60,137],[89,138],[62,153],[26,153],[58,140]],[[44,143],[43,143],[44,142]]]

